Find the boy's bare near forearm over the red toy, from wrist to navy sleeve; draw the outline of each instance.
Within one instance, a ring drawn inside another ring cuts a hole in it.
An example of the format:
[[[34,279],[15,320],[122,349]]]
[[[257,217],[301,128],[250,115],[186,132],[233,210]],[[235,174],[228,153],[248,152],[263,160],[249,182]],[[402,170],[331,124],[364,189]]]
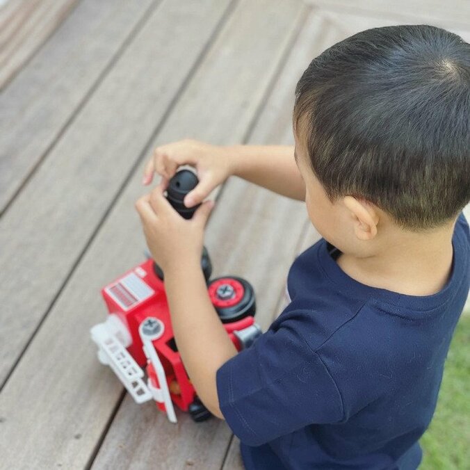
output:
[[[186,372],[206,408],[223,419],[216,372],[237,354],[214,309],[200,261],[165,271],[165,292],[175,341]]]

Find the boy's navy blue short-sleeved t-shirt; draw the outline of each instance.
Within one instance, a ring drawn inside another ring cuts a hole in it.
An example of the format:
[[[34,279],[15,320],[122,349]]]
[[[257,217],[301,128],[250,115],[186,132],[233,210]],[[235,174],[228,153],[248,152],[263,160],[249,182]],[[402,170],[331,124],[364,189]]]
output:
[[[346,275],[323,238],[300,254],[291,303],[217,371],[220,410],[246,469],[416,469],[470,284],[460,214],[451,277],[434,295]]]

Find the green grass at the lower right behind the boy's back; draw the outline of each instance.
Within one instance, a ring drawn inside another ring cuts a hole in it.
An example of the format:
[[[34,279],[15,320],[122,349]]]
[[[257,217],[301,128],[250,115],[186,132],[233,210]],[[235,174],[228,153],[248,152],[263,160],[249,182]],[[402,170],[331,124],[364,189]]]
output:
[[[470,470],[470,315],[452,339],[431,425],[421,438],[420,470]]]

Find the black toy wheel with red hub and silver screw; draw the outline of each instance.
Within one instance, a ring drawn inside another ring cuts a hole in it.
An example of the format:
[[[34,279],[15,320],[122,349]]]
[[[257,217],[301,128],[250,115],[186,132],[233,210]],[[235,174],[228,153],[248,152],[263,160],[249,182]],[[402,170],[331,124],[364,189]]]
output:
[[[245,279],[236,276],[217,277],[209,282],[208,290],[222,323],[232,323],[245,316],[254,316],[254,290]]]

